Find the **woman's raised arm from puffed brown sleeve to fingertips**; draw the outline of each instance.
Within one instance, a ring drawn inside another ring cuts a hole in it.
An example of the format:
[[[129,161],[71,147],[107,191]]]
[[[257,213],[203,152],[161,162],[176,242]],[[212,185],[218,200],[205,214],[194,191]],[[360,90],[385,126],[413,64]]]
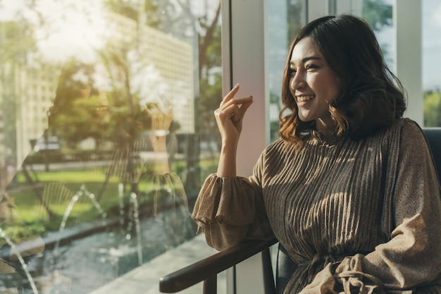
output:
[[[272,236],[262,190],[256,180],[256,173],[263,168],[264,155],[256,164],[253,177],[236,175],[237,142],[244,114],[252,103],[252,97],[234,98],[238,90],[239,85],[236,85],[215,111],[222,137],[218,171],[206,178],[192,214],[194,221],[204,231],[206,242],[218,250],[236,245],[244,239]]]

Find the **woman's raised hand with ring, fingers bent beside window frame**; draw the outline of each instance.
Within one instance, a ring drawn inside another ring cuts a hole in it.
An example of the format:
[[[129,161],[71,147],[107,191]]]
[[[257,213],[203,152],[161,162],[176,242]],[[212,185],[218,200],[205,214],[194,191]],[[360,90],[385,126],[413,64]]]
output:
[[[239,84],[223,97],[221,105],[214,115],[218,124],[223,144],[237,144],[242,131],[242,121],[248,107],[253,103],[253,97],[235,98]]]

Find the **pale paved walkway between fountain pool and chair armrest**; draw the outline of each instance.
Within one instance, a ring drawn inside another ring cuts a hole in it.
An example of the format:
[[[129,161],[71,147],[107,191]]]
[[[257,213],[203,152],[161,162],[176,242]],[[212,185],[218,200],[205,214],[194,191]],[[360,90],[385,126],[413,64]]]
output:
[[[197,235],[173,250],[152,259],[150,262],[137,267],[128,274],[116,278],[111,283],[94,290],[90,294],[157,294],[159,279],[162,276],[186,267],[200,259],[209,257],[217,251],[205,243],[204,234]],[[181,294],[201,294],[202,283],[183,290]],[[226,293],[225,272],[218,275],[218,293]]]

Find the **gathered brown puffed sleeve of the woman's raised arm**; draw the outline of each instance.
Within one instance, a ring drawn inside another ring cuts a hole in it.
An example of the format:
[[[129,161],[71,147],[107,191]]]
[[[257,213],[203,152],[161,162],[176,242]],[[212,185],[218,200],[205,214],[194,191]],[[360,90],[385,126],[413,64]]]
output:
[[[204,231],[206,242],[225,250],[242,240],[271,238],[261,188],[250,178],[206,178],[194,204],[192,219]]]

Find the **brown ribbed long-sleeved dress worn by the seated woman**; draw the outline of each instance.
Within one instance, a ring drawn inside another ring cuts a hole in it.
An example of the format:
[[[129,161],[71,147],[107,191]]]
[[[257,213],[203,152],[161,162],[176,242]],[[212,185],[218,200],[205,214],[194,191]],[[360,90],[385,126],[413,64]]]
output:
[[[299,265],[285,293],[441,293],[440,184],[408,118],[357,142],[273,142],[253,176],[209,176],[192,218],[218,250],[274,234]]]

